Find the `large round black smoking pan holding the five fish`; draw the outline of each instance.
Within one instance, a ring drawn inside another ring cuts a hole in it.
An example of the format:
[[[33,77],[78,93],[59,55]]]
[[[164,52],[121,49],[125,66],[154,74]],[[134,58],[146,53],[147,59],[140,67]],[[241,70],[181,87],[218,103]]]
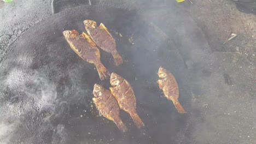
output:
[[[115,67],[109,53],[101,61],[110,72],[129,81],[137,112],[146,127],[138,130],[121,111],[129,131],[99,117],[92,104],[95,83],[101,81],[94,65],[72,51],[62,31],[84,31],[83,20],[104,23],[117,41],[125,63]],[[158,88],[158,68],[170,70],[180,88],[180,102],[189,112],[187,72],[175,44],[165,39],[136,10],[77,7],[61,11],[27,32],[9,47],[1,63],[1,122],[9,143],[179,143],[188,126],[188,113],[177,113]],[[118,32],[116,34],[115,32]],[[119,33],[123,35],[120,37]]]

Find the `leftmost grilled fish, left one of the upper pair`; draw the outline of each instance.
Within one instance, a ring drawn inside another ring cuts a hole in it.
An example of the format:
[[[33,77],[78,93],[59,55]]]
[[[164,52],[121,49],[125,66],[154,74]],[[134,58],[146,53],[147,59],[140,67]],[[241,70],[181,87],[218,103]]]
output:
[[[110,75],[108,70],[101,63],[100,50],[98,50],[96,44],[90,39],[89,35],[86,33],[79,35],[75,30],[64,31],[63,35],[71,49],[77,53],[78,56],[89,63],[95,64],[101,80],[106,79]]]

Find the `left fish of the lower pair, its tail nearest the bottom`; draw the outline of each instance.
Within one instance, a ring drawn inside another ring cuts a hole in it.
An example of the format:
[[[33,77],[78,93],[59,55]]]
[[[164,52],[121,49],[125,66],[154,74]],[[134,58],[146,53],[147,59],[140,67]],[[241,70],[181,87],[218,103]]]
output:
[[[94,98],[92,98],[92,100],[102,116],[106,117],[110,121],[113,121],[121,131],[127,131],[127,128],[121,121],[119,115],[118,102],[111,92],[102,85],[98,85],[96,83],[92,93],[94,94]]]

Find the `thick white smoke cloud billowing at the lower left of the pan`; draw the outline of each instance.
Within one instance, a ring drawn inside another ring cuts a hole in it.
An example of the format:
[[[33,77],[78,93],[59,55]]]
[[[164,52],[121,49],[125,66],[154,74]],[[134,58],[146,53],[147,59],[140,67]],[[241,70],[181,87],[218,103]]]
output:
[[[71,71],[67,75],[72,77],[73,85],[60,86],[60,81],[52,79],[61,80],[63,75],[51,77],[51,71],[55,69],[49,70],[48,66],[37,70],[15,67],[2,79],[0,143],[34,143],[49,134],[51,143],[66,143],[65,125],[53,121],[68,115],[71,105],[85,103],[84,95],[91,91],[79,86],[80,79]]]

